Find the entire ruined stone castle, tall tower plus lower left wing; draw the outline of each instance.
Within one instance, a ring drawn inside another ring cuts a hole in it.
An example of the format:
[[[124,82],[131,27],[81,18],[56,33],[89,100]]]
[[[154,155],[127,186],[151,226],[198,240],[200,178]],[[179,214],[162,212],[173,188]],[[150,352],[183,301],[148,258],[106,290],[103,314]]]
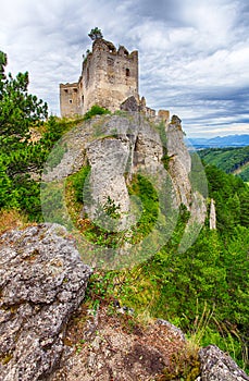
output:
[[[132,96],[139,102],[138,52],[98,38],[83,61],[78,82],[60,84],[61,115],[84,114],[94,105],[113,112]]]

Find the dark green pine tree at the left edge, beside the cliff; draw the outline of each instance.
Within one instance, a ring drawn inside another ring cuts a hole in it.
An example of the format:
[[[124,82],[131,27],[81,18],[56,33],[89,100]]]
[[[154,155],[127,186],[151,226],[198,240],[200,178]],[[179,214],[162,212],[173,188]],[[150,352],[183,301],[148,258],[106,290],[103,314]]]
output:
[[[28,94],[28,73],[5,74],[7,54],[0,51],[0,209],[39,209],[39,184],[29,172],[39,152],[29,139],[32,126],[48,116],[48,106]],[[34,201],[35,199],[35,201]]]

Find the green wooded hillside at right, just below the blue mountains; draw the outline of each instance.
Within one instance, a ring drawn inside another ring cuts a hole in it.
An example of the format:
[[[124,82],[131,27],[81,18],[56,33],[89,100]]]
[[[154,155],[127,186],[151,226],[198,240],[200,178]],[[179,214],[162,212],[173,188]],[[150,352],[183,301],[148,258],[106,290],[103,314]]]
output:
[[[200,149],[198,153],[207,164],[216,165],[226,173],[234,173],[249,182],[249,146],[207,148]]]

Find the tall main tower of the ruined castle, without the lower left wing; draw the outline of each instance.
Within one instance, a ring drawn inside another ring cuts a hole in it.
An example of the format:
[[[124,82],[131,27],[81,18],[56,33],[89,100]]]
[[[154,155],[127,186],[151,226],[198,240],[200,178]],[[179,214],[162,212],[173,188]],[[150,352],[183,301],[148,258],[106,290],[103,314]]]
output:
[[[83,113],[99,105],[115,111],[129,96],[138,98],[138,53],[124,47],[116,51],[113,44],[97,39],[92,53],[83,65]]]

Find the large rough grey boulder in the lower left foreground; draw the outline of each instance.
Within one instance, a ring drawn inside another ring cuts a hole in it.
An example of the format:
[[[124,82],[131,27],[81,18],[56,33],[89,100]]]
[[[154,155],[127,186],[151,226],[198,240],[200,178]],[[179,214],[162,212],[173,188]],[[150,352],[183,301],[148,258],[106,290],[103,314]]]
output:
[[[58,365],[91,270],[58,224],[0,237],[0,380],[43,380]]]

